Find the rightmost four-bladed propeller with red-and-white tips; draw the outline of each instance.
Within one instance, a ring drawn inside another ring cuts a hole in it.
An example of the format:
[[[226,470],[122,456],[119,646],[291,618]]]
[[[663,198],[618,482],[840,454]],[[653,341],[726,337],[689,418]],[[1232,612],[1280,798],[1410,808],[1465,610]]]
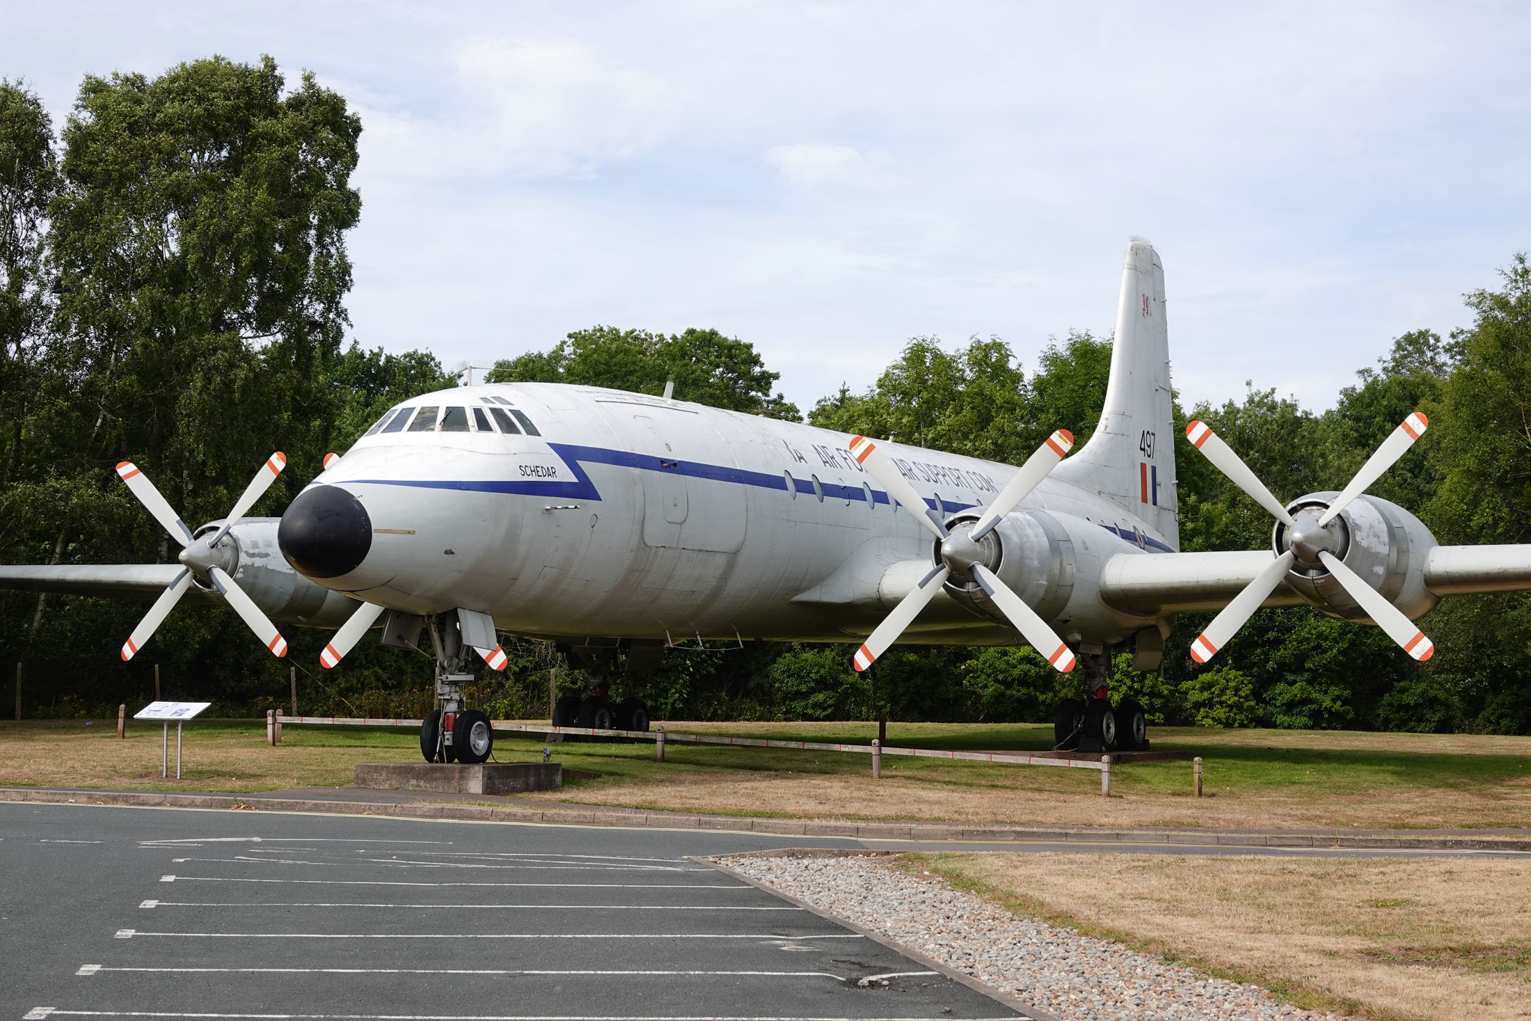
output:
[[[1430,638],[1419,631],[1409,617],[1402,614],[1396,606],[1393,606],[1387,599],[1382,597],[1375,588],[1367,585],[1361,577],[1347,568],[1334,553],[1330,546],[1337,545],[1337,536],[1327,531],[1327,525],[1340,516],[1340,513],[1350,505],[1350,502],[1366,491],[1372,482],[1376,482],[1384,471],[1387,471],[1393,464],[1404,456],[1404,452],[1413,445],[1419,436],[1424,435],[1425,429],[1430,426],[1422,413],[1413,412],[1409,418],[1399,422],[1387,439],[1376,449],[1376,452],[1367,458],[1361,470],[1355,473],[1355,478],[1346,484],[1344,491],[1340,493],[1323,511],[1317,514],[1315,510],[1300,510],[1298,516],[1294,519],[1288,510],[1271,496],[1271,490],[1265,488],[1265,484],[1255,478],[1254,471],[1249,470],[1239,455],[1222,441],[1222,438],[1213,432],[1211,426],[1206,422],[1190,422],[1185,427],[1185,436],[1191,441],[1191,445],[1200,450],[1208,461],[1211,461],[1219,471],[1228,476],[1234,485],[1249,494],[1260,507],[1271,511],[1271,514],[1286,525],[1288,545],[1286,553],[1281,553],[1266,566],[1260,574],[1254,577],[1249,585],[1245,586],[1239,595],[1232,599],[1222,612],[1213,618],[1213,623],[1206,626],[1206,631],[1196,637],[1191,643],[1191,658],[1197,663],[1206,663],[1217,651],[1228,644],[1228,640],[1239,632],[1249,615],[1254,614],[1265,602],[1265,597],[1275,591],[1275,586],[1281,583],[1286,572],[1294,563],[1301,562],[1309,568],[1324,568],[1329,574],[1350,594],[1361,609],[1366,611],[1367,617],[1376,621],[1387,635],[1402,646],[1404,652],[1415,657],[1416,660],[1428,660],[1435,652],[1435,644]]]

